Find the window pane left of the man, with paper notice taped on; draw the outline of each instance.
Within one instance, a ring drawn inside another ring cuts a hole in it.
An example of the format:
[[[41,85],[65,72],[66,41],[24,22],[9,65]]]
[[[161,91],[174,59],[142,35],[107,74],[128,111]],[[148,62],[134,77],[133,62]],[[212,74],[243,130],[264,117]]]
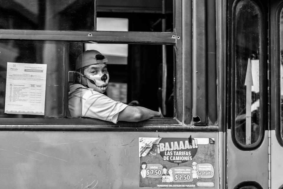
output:
[[[0,117],[62,117],[65,42],[1,40]]]

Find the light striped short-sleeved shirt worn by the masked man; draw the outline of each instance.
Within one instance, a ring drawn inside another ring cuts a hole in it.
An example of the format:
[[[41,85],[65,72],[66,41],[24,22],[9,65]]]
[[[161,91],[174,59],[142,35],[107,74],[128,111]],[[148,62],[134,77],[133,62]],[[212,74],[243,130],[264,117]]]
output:
[[[127,106],[92,88],[80,84],[70,86],[69,110],[72,117],[90,117],[117,123],[119,112]]]

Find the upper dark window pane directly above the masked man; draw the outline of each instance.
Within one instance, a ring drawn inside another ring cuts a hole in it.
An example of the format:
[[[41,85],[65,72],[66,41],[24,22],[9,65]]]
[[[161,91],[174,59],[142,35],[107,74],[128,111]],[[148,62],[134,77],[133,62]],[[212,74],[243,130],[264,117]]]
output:
[[[163,12],[162,7],[164,7]],[[104,18],[103,24],[106,25],[112,22],[107,18],[128,19],[129,31],[172,32],[173,1],[164,0],[162,6],[162,0],[97,0],[97,17]],[[163,29],[162,19],[164,19]],[[98,19],[97,24],[99,22]],[[119,26],[115,31],[121,31],[118,28]],[[114,31],[105,28],[97,30]]]

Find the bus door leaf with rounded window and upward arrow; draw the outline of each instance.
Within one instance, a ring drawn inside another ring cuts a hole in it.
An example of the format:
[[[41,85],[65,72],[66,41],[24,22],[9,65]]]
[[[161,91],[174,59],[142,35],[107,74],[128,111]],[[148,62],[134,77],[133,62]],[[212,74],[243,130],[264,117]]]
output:
[[[227,1],[226,188],[269,188],[268,2]]]

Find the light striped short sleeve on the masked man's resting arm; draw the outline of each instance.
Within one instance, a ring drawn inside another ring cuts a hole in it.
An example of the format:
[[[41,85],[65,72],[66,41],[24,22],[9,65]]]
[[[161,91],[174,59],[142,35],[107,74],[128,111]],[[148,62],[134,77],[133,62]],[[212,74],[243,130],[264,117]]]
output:
[[[117,123],[119,112],[128,105],[114,101],[101,93],[90,95],[83,104],[83,117],[91,117]]]

